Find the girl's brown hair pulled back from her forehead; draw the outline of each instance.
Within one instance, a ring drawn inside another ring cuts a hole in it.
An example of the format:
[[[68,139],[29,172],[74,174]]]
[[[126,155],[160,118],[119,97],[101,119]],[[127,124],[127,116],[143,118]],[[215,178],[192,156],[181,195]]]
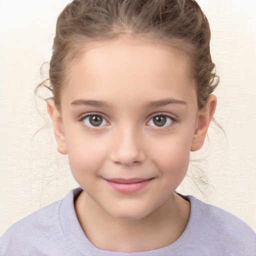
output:
[[[49,68],[50,90],[60,102],[70,63],[88,41],[142,36],[188,54],[198,107],[218,84],[207,18],[194,0],[73,0],[60,13]]]

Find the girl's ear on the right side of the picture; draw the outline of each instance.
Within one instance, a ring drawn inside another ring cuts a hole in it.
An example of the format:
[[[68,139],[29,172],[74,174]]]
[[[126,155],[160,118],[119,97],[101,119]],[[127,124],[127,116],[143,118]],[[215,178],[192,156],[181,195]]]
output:
[[[202,147],[211,118],[216,109],[216,104],[216,96],[210,94],[206,100],[206,105],[198,111],[197,125],[192,138],[191,151],[196,151]]]

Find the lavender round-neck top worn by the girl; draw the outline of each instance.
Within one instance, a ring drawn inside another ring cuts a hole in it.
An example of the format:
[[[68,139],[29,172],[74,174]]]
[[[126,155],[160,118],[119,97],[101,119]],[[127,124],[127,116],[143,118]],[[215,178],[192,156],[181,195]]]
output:
[[[107,251],[95,247],[82,231],[74,211],[80,188],[12,225],[0,239],[0,255],[88,256],[207,256],[256,255],[256,234],[232,214],[186,196],[190,217],[173,243],[138,252]],[[113,241],[114,242],[114,241]]]

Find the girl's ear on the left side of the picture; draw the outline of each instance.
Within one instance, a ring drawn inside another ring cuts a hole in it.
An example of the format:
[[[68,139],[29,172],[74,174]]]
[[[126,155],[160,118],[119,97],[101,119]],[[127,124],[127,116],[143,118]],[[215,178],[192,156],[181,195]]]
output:
[[[57,150],[61,154],[67,154],[65,134],[64,134],[61,114],[56,108],[53,98],[48,98],[46,102],[47,102],[47,112],[52,120],[54,136],[57,142]]]

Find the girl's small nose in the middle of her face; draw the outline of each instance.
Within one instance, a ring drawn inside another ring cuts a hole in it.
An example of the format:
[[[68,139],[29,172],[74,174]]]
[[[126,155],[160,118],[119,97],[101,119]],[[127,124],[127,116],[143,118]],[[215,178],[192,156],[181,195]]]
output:
[[[126,166],[139,164],[145,160],[141,134],[132,128],[120,128],[114,134],[110,153],[111,161]]]

